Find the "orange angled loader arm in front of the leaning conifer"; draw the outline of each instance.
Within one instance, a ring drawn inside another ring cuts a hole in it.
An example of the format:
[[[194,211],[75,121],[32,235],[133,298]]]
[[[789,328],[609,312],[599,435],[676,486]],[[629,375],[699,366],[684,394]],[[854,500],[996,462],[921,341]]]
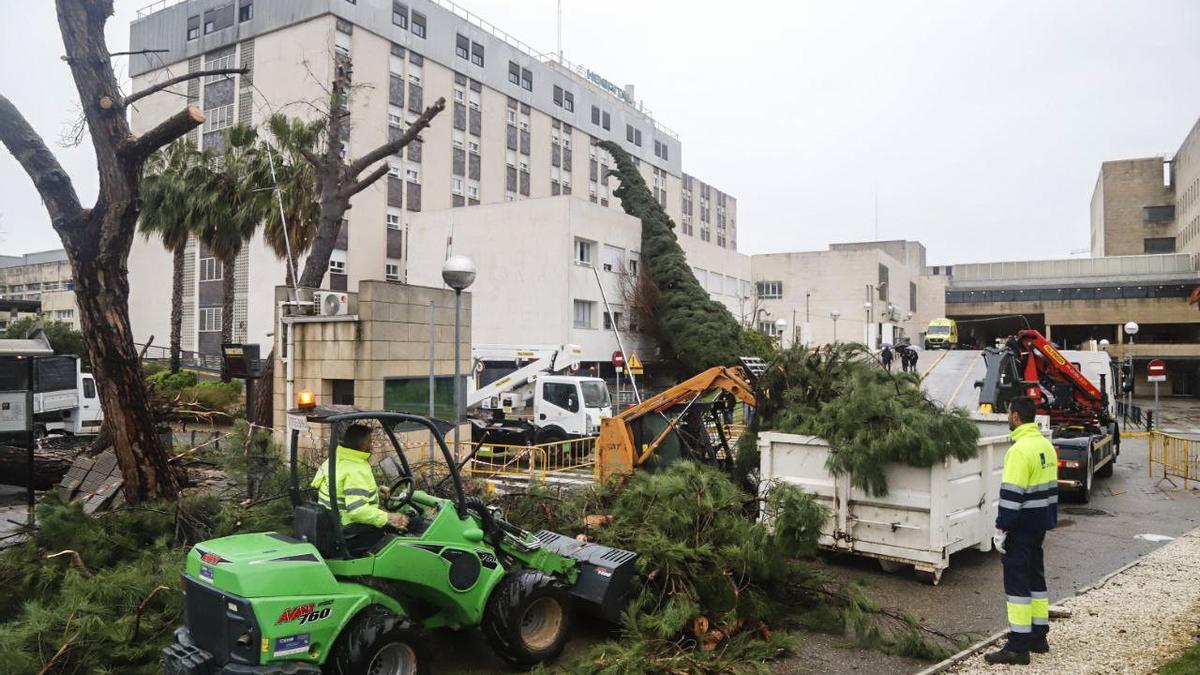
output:
[[[596,438],[596,477],[605,480],[612,476],[632,473],[635,466],[643,465],[679,425],[683,412],[671,419],[650,443],[636,449],[632,424],[648,414],[665,413],[676,406],[685,406],[684,412],[701,396],[725,392],[739,401],[754,406],[750,384],[738,369],[714,366],[690,380],[632,406],[616,417],[600,422]]]

